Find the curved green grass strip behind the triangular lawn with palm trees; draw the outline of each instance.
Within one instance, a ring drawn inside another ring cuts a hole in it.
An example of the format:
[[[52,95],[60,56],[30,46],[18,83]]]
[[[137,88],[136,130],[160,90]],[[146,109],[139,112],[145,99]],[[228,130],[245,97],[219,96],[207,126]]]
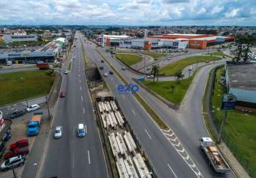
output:
[[[220,60],[221,58],[213,57],[213,56],[192,56],[188,58],[183,58],[179,61],[176,61],[174,63],[171,63],[164,68],[160,69],[160,74],[165,75],[174,75],[175,73],[184,70],[189,65],[192,65],[194,63],[203,63],[205,61],[213,61],[213,60]]]

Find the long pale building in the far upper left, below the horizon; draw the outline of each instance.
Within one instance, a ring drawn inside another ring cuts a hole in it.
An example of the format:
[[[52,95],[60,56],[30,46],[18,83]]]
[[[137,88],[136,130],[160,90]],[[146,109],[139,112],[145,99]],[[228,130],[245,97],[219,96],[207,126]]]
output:
[[[38,36],[36,35],[20,35],[11,33],[4,33],[4,43],[11,43],[11,42],[24,42],[24,41],[37,41]]]

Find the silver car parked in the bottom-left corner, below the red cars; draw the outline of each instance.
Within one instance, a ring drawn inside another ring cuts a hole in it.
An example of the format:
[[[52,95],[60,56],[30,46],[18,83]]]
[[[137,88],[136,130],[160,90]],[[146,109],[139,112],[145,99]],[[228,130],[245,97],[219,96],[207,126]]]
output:
[[[11,157],[1,164],[1,171],[7,171],[9,169],[12,169],[13,167],[22,166],[24,165],[25,161],[26,159],[21,155]]]

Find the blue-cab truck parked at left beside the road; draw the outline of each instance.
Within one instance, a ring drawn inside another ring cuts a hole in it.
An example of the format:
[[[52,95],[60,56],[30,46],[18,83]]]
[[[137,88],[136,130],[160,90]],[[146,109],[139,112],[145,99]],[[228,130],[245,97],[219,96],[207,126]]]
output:
[[[34,136],[39,134],[41,126],[41,115],[33,115],[26,125],[26,135]]]

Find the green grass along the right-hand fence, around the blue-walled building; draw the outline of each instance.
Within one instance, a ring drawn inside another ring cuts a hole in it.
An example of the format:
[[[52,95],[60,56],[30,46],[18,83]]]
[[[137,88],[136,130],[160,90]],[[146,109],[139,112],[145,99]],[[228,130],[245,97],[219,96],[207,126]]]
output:
[[[212,105],[218,125],[221,125],[224,112],[219,110],[223,86],[220,84],[220,75],[224,69],[217,69],[214,95],[212,96]],[[256,115],[247,114],[239,111],[229,111],[227,113],[227,122],[224,127],[227,135],[227,145],[230,147],[237,159],[241,159],[242,165],[250,170],[256,169]],[[247,159],[248,162],[245,161]]]

